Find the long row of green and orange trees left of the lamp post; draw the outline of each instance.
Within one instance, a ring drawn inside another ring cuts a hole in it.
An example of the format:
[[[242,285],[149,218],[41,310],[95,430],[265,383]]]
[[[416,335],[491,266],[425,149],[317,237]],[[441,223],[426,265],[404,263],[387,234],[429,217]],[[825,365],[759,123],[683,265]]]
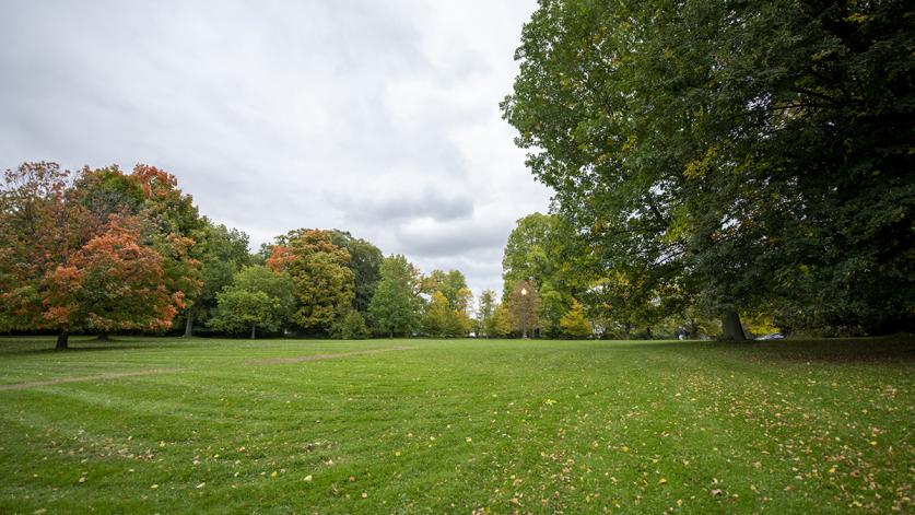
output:
[[[0,187],[0,331],[508,336],[492,292],[476,316],[459,270],[423,274],[345,231],[298,229],[250,253],[148,165],[8,169]]]

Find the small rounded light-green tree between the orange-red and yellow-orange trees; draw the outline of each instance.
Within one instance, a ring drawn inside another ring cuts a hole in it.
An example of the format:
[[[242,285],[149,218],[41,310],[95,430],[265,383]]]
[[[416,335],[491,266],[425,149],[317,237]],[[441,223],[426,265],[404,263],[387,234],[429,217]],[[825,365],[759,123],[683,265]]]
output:
[[[265,266],[245,267],[232,285],[216,294],[218,311],[208,325],[213,329],[238,333],[256,329],[277,332],[292,315],[295,284],[286,272]]]

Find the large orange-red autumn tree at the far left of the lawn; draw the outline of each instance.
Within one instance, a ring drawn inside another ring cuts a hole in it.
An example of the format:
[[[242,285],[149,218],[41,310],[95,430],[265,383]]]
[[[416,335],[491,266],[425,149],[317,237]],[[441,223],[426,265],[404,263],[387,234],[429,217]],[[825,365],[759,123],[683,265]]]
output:
[[[0,330],[55,330],[58,348],[66,349],[71,331],[167,327],[200,281],[188,235],[196,208],[163,174],[129,176],[141,186],[138,203],[118,194],[116,183],[128,176],[116,167],[104,176],[84,169],[75,179],[55,163],[7,171]]]

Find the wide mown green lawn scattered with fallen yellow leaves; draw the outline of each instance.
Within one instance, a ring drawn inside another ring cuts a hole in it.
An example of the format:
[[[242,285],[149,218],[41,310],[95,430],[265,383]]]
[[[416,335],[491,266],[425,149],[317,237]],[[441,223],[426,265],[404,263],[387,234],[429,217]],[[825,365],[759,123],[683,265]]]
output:
[[[906,339],[71,346],[0,339],[2,513],[915,511]]]

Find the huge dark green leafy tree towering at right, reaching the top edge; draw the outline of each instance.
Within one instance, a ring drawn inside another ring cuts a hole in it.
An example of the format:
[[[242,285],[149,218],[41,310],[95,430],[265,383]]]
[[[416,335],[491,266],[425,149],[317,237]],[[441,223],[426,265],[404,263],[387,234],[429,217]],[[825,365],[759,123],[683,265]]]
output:
[[[543,0],[504,115],[579,235],[685,278],[726,336],[760,304],[798,327],[911,327],[912,17]]]

